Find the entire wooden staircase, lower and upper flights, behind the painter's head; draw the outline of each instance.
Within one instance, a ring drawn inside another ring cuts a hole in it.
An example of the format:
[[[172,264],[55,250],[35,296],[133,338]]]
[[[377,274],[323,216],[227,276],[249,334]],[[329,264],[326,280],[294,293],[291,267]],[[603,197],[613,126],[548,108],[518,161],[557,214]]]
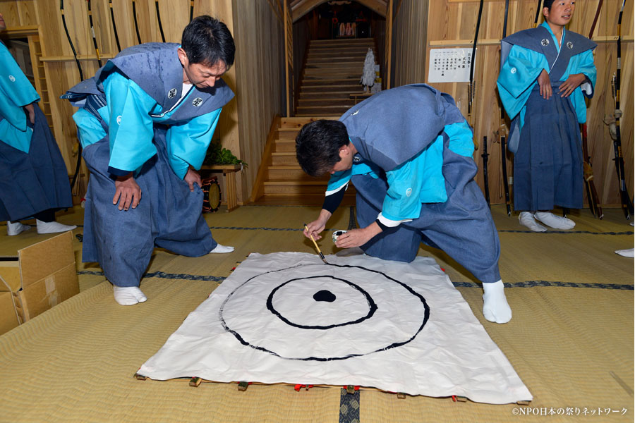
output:
[[[369,48],[377,51],[372,38],[310,42],[296,117],[274,118],[250,202],[322,205],[329,175],[312,178],[302,171],[296,160],[296,135],[306,123],[337,120],[361,101],[364,96],[359,80]],[[354,202],[355,190],[349,185],[342,205]]]

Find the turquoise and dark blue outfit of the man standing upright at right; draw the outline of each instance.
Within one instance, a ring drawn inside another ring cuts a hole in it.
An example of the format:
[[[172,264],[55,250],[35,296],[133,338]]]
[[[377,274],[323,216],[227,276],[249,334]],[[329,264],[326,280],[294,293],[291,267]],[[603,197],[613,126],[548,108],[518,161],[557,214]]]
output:
[[[514,208],[550,210],[582,207],[582,152],[579,123],[586,122],[584,97],[593,96],[596,71],[590,39],[563,29],[560,43],[548,23],[502,40],[498,92],[512,125]],[[538,75],[549,73],[553,95],[540,96]],[[558,88],[569,75],[585,82],[569,97]]]

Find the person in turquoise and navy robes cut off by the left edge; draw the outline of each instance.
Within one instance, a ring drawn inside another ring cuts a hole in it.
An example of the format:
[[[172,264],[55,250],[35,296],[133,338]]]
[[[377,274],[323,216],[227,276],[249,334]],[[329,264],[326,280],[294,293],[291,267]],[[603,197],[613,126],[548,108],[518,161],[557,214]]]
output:
[[[0,13],[0,31],[6,30]],[[68,171],[47,118],[37,106],[40,96],[0,42],[0,221],[7,235],[30,226],[37,233],[71,231],[76,226],[55,221],[55,212],[73,207]]]

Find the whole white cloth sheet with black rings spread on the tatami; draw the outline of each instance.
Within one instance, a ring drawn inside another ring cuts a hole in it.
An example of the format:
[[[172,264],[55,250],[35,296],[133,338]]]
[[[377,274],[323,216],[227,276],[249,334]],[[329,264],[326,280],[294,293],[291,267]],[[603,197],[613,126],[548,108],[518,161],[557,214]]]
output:
[[[138,373],[531,400],[433,259],[327,261],[250,255]]]

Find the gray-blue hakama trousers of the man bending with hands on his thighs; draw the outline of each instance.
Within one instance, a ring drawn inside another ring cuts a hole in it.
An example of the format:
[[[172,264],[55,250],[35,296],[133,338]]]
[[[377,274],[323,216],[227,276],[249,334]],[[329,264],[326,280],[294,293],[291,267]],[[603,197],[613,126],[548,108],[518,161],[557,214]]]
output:
[[[202,190],[178,178],[167,161],[164,130],[155,129],[157,155],[135,180],[142,200],[127,212],[113,206],[114,179],[107,169],[107,138],[89,145],[83,157],[90,169],[84,214],[83,262],[99,262],[116,286],[139,286],[152,251],[162,247],[179,255],[199,257],[216,247],[203,219]]]

